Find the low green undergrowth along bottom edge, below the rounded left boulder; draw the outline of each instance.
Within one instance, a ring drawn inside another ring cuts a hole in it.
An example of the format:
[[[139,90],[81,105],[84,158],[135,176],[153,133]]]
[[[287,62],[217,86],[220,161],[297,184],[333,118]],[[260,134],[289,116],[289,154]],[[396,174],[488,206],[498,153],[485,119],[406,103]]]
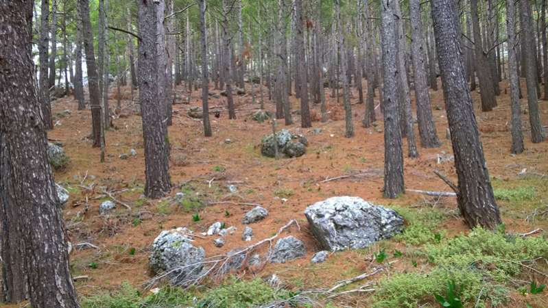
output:
[[[248,281],[234,278],[206,292],[184,291],[178,287],[160,287],[156,294],[143,295],[128,282],[119,290],[82,298],[82,308],[245,308],[274,300],[289,299],[295,294],[276,290],[261,279]]]

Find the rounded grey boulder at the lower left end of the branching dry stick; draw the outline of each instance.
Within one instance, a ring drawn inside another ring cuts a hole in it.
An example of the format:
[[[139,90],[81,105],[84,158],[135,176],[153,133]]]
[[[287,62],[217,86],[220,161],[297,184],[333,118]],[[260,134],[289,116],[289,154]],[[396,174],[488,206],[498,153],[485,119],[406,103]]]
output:
[[[189,285],[204,267],[206,252],[192,244],[189,233],[187,228],[165,230],[152,243],[150,268],[156,273],[169,271],[167,278],[174,285]]]

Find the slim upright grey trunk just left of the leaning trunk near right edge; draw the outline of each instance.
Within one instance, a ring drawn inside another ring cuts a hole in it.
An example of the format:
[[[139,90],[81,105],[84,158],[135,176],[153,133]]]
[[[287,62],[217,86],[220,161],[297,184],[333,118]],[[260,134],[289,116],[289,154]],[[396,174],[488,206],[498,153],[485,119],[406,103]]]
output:
[[[516,5],[514,0],[506,0],[506,27],[508,33],[508,74],[510,75],[510,104],[512,105],[512,148],[510,152],[523,152],[523,132],[521,131],[521,107],[519,102],[518,64],[516,59]]]

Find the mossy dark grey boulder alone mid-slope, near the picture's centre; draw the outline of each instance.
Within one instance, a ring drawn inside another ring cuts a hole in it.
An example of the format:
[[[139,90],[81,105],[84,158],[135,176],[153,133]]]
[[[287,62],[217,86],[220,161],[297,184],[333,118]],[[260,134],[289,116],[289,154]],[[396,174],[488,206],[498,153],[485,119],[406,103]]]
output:
[[[305,136],[296,135],[287,129],[281,129],[274,134],[264,136],[261,140],[261,154],[267,157],[276,157],[276,143],[278,155],[286,157],[299,157],[306,153],[308,141]]]

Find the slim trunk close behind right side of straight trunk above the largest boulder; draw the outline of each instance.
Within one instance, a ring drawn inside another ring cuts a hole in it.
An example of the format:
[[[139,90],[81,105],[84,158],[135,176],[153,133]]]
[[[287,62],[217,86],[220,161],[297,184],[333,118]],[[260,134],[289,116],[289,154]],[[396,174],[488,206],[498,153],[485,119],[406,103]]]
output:
[[[405,33],[403,32],[403,18],[400,9],[399,1],[393,2],[392,10],[396,14],[396,36],[397,36],[397,51],[396,51],[396,63],[398,64],[398,77],[399,77],[399,88],[401,89],[401,109],[403,109],[404,120],[400,119],[400,122],[403,122],[404,132],[407,136],[407,156],[414,158],[418,157],[417,146],[415,142],[415,129],[414,129],[414,120],[413,113],[411,110],[411,97],[409,95],[409,82],[407,81],[407,70],[405,69]]]

